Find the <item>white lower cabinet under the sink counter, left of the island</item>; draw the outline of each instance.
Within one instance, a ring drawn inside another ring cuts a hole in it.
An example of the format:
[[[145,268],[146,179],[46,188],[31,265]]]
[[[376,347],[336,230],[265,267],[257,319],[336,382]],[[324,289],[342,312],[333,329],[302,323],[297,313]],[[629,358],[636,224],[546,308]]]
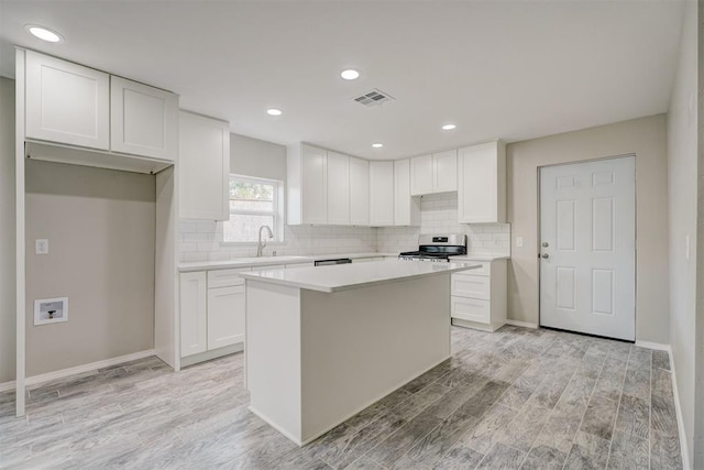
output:
[[[180,274],[182,358],[244,342],[246,304],[244,280],[240,277],[243,271],[250,269]],[[217,356],[209,354],[198,360]]]

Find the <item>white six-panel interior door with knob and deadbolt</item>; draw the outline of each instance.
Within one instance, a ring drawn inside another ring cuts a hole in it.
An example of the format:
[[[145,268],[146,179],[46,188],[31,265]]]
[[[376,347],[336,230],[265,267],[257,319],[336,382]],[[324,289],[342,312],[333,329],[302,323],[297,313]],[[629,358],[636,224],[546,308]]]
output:
[[[540,168],[540,325],[636,339],[636,159]]]

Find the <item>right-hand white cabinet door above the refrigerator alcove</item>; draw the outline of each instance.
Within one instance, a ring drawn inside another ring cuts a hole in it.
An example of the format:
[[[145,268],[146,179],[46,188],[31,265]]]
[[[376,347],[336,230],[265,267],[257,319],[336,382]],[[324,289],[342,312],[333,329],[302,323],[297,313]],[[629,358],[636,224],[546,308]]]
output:
[[[178,96],[110,77],[110,150],[173,161],[177,125]]]

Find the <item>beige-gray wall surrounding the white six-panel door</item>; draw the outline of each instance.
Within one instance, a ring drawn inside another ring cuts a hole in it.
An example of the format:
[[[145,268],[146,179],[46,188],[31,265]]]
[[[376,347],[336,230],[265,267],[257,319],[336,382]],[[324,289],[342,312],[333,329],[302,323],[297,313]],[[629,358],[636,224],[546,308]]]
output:
[[[636,339],[667,345],[668,168],[666,116],[635,119],[507,146],[512,238],[508,318],[538,323],[538,167],[605,156],[636,155]]]

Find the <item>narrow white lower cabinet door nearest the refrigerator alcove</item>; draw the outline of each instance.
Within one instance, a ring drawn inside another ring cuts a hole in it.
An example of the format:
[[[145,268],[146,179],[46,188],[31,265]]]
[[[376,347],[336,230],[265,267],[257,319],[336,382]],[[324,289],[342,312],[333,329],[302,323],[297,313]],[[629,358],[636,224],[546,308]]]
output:
[[[180,356],[197,354],[208,349],[206,272],[182,273]]]

